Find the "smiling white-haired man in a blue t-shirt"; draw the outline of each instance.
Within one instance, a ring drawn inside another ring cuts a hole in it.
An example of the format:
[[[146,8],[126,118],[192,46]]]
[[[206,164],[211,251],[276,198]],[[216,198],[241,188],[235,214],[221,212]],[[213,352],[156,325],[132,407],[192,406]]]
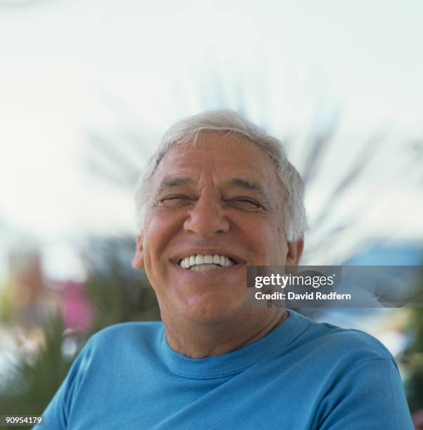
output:
[[[136,204],[133,266],[163,323],[91,337],[46,429],[412,429],[379,341],[247,299],[247,266],[296,266],[303,251],[303,185],[275,138],[232,111],[184,119]]]

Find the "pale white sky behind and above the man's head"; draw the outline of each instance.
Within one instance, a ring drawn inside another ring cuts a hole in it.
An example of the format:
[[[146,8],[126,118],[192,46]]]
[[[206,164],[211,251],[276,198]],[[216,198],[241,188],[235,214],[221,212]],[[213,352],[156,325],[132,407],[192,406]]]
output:
[[[31,236],[72,275],[67,244],[134,234],[131,193],[84,168],[88,133],[129,128],[143,160],[172,122],[221,107],[217,76],[226,107],[241,88],[249,117],[291,138],[300,169],[311,131],[339,112],[307,190],[311,227],[335,178],[382,134],[332,221],[359,219],[344,242],[422,243],[423,162],[412,152],[423,139],[422,22],[419,0],[0,0],[2,242]]]

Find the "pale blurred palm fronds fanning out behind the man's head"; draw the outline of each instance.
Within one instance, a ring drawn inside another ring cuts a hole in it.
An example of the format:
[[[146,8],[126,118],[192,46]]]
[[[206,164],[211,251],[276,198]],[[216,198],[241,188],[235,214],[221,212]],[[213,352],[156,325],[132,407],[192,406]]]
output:
[[[210,64],[213,64],[210,61]],[[252,103],[249,103],[249,92],[251,88],[241,79],[235,81],[233,93],[229,93],[225,86],[226,76],[215,67],[209,67],[205,71],[205,78],[199,80],[201,75],[196,74],[190,82],[192,91],[197,96],[200,110],[214,108],[230,108],[240,112],[242,115],[250,116]],[[271,89],[263,87],[255,89],[261,93],[263,106],[274,94]],[[190,107],[187,96],[184,97],[181,85],[174,85],[173,100],[178,100],[178,117],[184,117],[197,113]],[[117,103],[116,103],[117,104]],[[275,103],[269,103],[275,105]],[[116,107],[116,106],[114,106]],[[195,107],[195,109],[198,109]],[[325,110],[322,110],[325,112]],[[267,115],[266,115],[267,113]],[[297,166],[299,173],[304,179],[306,193],[321,193],[315,190],[314,183],[318,182],[323,174],[323,164],[330,157],[334,139],[339,127],[340,112],[321,114],[317,124],[311,129],[309,136],[304,142],[294,141],[287,136],[277,136],[285,146],[287,153],[293,152],[301,147],[301,165]],[[265,129],[278,129],[280,124],[275,124],[274,112],[263,112],[260,115],[260,125]],[[138,130],[134,132],[134,130]],[[159,132],[157,132],[159,135]],[[369,193],[361,193],[361,200],[356,205],[355,211],[349,214],[348,219],[337,220],[334,216],[339,211],[344,197],[349,196],[354,190],[358,180],[366,169],[369,168],[375,156],[378,155],[381,144],[384,142],[383,133],[375,133],[365,142],[356,157],[350,160],[349,166],[341,171],[333,169],[332,183],[327,186],[325,195],[318,195],[321,202],[318,211],[311,219],[311,229],[306,238],[306,249],[302,257],[302,263],[335,265],[349,259],[360,249],[372,245],[368,232],[360,228],[359,221],[371,210],[375,196]],[[110,135],[104,131],[89,131],[87,134],[87,152],[85,165],[88,171],[96,178],[113,187],[119,187],[122,193],[131,195],[133,193],[141,167],[145,166],[148,155],[153,150],[150,138],[143,136],[143,124],[121,125],[117,133]],[[373,202],[373,203],[372,203]],[[342,235],[348,231],[348,240],[343,240]],[[324,257],[320,257],[324,256]]]

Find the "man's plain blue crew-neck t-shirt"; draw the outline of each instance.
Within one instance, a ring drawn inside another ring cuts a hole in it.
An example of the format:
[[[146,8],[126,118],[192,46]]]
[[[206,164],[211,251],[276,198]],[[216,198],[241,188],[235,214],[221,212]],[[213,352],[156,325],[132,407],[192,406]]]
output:
[[[254,344],[193,359],[162,323],[96,333],[44,430],[413,429],[396,363],[369,334],[289,318]]]

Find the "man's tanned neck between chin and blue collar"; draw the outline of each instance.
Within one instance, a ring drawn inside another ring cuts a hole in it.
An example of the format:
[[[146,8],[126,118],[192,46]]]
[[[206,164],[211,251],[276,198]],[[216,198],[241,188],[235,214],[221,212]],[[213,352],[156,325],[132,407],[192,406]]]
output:
[[[285,309],[267,308],[260,313],[221,322],[199,323],[163,315],[169,346],[190,358],[225,354],[262,339],[288,317]]]

